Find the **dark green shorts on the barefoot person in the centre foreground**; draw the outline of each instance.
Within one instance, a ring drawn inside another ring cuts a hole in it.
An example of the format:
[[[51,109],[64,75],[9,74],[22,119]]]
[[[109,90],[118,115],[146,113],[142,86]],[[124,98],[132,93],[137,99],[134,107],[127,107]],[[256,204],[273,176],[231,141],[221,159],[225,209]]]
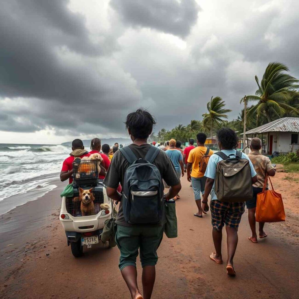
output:
[[[164,226],[117,225],[115,236],[116,244],[120,250],[119,269],[126,266],[136,267],[138,248],[140,261],[144,266],[155,266],[158,261],[157,249],[163,238]]]

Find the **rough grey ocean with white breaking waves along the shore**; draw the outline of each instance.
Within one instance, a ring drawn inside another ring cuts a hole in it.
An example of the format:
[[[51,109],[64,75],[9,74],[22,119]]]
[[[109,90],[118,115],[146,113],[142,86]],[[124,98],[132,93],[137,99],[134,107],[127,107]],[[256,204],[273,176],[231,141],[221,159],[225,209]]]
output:
[[[0,144],[0,215],[53,190],[70,146]]]

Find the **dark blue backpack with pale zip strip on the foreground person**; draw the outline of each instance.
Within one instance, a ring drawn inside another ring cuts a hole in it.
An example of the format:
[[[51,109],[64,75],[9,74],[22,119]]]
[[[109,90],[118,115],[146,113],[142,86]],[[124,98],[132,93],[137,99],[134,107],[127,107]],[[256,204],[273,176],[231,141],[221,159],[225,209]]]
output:
[[[164,185],[153,161],[160,149],[151,146],[144,159],[137,159],[129,146],[119,149],[129,162],[123,180],[122,206],[126,222],[160,224],[164,219]]]

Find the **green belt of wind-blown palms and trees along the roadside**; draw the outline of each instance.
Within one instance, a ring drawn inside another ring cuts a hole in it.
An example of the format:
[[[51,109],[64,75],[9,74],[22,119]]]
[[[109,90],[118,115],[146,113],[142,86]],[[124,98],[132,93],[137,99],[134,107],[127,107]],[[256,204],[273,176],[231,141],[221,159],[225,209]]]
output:
[[[283,63],[270,62],[261,81],[255,76],[258,89],[255,95],[246,96],[248,102],[253,102],[253,105],[246,110],[247,130],[278,118],[299,116],[299,80],[287,72],[289,68]],[[239,103],[239,99],[236,99],[237,102]],[[171,130],[161,129],[157,135],[153,133],[151,139],[166,141],[175,138],[186,142],[189,138],[196,138],[198,132],[204,132],[209,137],[213,136],[217,129],[223,126],[241,134],[243,133],[244,109],[240,110],[237,119],[228,121],[228,113],[231,110],[225,108],[225,100],[219,96],[211,97],[207,102],[207,111],[202,115],[201,120],[191,120],[186,125],[178,124]]]

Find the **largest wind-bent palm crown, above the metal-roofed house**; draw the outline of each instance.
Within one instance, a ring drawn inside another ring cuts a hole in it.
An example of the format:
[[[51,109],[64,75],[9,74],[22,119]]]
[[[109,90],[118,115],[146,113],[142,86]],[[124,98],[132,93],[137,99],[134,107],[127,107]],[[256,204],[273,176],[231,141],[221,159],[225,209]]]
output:
[[[268,122],[280,118],[285,112],[299,113],[298,109],[289,105],[288,101],[296,94],[299,80],[286,74],[289,68],[280,62],[270,62],[263,75],[261,83],[255,76],[258,89],[255,95],[247,96],[248,101],[258,101],[249,111],[259,119],[266,115]],[[257,121],[258,121],[257,119]]]

